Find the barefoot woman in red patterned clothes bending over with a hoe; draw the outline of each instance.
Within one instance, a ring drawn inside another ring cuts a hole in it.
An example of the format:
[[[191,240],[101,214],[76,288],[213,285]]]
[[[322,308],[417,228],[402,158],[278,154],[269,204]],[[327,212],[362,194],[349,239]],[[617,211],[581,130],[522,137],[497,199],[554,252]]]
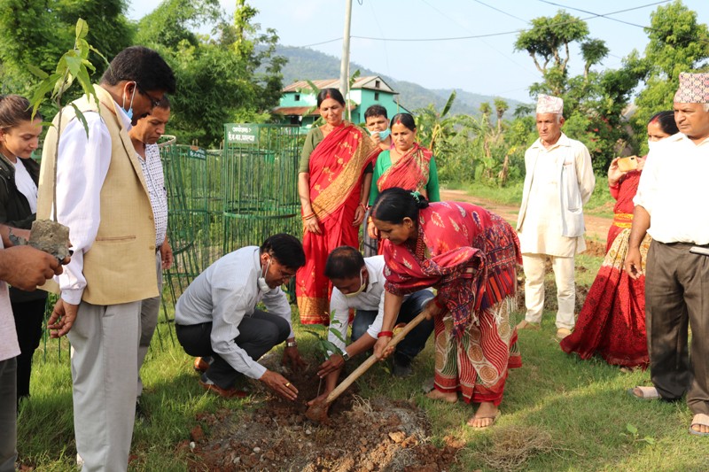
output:
[[[384,321],[374,352],[386,349],[404,294],[435,287],[435,376],[429,398],[449,402],[460,391],[479,403],[468,425],[495,423],[508,370],[522,365],[510,320],[521,264],[515,230],[467,203],[432,203],[417,192],[385,190],[372,208],[386,261]]]

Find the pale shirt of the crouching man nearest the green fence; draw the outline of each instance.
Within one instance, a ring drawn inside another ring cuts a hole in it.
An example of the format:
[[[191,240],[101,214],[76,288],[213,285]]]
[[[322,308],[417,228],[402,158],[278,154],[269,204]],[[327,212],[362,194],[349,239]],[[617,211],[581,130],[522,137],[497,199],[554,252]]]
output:
[[[212,349],[237,372],[251,378],[261,378],[266,368],[253,360],[234,339],[238,325],[251,316],[261,300],[269,313],[291,324],[291,306],[283,290],[259,290],[261,262],[258,246],[246,246],[218,259],[207,267],[177,300],[175,323],[191,326],[212,322]],[[294,337],[292,328],[291,334]]]

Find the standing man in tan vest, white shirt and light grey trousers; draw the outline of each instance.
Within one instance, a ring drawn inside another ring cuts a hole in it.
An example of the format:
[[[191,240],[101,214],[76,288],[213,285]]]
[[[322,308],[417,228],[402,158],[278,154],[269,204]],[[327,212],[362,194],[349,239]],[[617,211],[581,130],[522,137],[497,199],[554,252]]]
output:
[[[175,91],[175,76],[157,52],[134,46],[113,58],[95,87],[97,100],[84,96],[64,108],[56,160],[59,115],[47,133],[37,218],[51,218],[56,166],[58,221],[69,228],[74,257],[55,277],[61,298],[48,326],[53,337],[68,333],[74,348],[77,459],[85,471],[125,471],[141,300],[158,295],[154,217],[128,131]]]

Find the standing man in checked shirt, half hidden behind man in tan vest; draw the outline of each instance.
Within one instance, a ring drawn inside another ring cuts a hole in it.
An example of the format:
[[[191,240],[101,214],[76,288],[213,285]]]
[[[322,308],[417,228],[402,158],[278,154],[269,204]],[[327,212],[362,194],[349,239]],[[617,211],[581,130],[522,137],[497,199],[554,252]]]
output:
[[[165,190],[165,178],[160,161],[158,141],[165,134],[165,127],[170,119],[170,101],[163,96],[155,104],[150,114],[138,120],[130,129],[130,141],[136,148],[136,155],[143,169],[145,184],[148,187],[152,214],[155,222],[155,271],[158,282],[158,296],[145,298],[140,306],[140,343],[138,344],[138,380],[136,393],[136,416],[144,418],[145,408],[140,403],[143,393],[143,381],[140,368],[148,353],[152,335],[158,325],[160,301],[162,299],[162,271],[172,267],[172,248],[168,243],[168,192]]]

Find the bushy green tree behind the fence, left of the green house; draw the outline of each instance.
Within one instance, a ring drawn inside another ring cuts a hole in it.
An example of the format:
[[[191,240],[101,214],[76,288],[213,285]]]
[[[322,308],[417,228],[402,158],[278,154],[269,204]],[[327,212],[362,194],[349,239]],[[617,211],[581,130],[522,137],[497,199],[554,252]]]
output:
[[[136,38],[158,50],[175,71],[178,92],[170,131],[182,143],[217,147],[223,124],[270,120],[282,89],[278,36],[261,34],[257,11],[239,0],[230,23],[218,0],[166,0],[141,19]],[[212,35],[197,27],[211,26]]]

